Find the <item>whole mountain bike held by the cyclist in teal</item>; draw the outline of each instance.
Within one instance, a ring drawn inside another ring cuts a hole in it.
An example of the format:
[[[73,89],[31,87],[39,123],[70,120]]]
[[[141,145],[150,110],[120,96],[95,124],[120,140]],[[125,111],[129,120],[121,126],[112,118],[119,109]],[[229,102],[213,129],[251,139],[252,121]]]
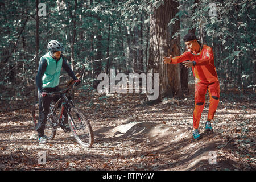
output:
[[[84,147],[91,147],[93,144],[93,130],[87,117],[82,114],[81,110],[75,107],[72,101],[70,90],[73,88],[75,82],[69,82],[68,86],[58,92],[47,93],[49,97],[60,96],[55,104],[50,105],[49,114],[47,116],[46,127],[44,135],[47,140],[52,140],[56,135],[57,127],[61,126],[63,119],[63,111],[67,111],[69,127],[75,137],[76,141]],[[59,104],[60,109],[59,109]],[[32,107],[32,118],[34,127],[38,121],[39,104]],[[63,129],[64,130],[64,129]],[[65,131],[65,130],[64,130]],[[67,132],[67,130],[65,131]]]

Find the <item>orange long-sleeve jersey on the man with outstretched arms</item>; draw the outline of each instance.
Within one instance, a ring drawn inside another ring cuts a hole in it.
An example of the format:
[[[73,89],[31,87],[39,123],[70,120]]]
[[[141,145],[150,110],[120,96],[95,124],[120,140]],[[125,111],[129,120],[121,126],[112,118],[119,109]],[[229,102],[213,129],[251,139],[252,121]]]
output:
[[[218,76],[214,65],[214,56],[212,48],[204,45],[201,54],[198,56],[192,55],[190,51],[184,52],[180,56],[172,57],[171,63],[181,63],[183,61],[196,61],[196,65],[192,67],[195,82],[216,82]]]

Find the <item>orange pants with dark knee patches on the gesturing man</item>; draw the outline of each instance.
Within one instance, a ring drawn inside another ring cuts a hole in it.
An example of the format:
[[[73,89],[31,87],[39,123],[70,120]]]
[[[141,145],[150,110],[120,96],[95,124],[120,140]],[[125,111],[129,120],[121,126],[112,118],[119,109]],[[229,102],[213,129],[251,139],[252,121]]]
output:
[[[205,94],[209,92],[210,95],[210,106],[208,119],[212,120],[220,101],[220,84],[218,81],[211,84],[207,82],[198,82],[195,84],[195,109],[193,113],[193,127],[198,129],[199,122],[201,119],[201,113],[204,110]]]

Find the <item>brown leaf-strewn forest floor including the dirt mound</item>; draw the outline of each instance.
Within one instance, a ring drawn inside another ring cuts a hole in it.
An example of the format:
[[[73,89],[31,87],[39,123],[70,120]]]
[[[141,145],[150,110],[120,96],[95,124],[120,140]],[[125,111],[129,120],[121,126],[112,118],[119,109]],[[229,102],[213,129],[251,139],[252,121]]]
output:
[[[47,144],[39,144],[32,104],[28,107],[26,102],[26,108],[0,113],[0,170],[256,169],[255,93],[222,93],[213,134],[204,134],[207,95],[199,127],[203,138],[197,141],[192,140],[193,92],[155,105],[143,105],[142,94],[83,94],[75,94],[76,103],[93,127],[91,148],[81,147],[63,130]],[[38,164],[42,151],[46,164]]]

